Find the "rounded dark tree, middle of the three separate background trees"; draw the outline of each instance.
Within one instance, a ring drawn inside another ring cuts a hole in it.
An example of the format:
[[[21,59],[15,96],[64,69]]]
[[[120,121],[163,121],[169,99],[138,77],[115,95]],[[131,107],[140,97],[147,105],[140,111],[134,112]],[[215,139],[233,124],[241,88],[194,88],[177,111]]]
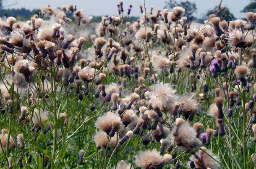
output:
[[[227,7],[221,7],[220,8],[221,10],[219,11],[219,18],[222,18],[223,14],[225,13],[225,17],[224,17],[224,20],[226,21],[230,21],[230,20],[235,20],[235,16],[230,13],[230,10],[227,8]],[[205,15],[205,19],[209,17],[209,15],[211,14],[215,14],[217,13],[219,10],[219,6],[215,6],[213,10],[208,10],[206,15]]]

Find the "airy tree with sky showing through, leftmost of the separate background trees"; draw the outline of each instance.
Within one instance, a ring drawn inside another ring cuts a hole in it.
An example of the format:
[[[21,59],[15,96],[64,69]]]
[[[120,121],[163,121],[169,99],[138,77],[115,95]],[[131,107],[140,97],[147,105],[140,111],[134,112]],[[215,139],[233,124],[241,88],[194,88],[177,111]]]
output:
[[[180,3],[177,3],[175,0],[165,1],[164,8],[172,10],[175,6],[180,6],[185,9],[185,13],[183,13],[183,16],[188,18],[188,22],[196,19],[193,16],[193,14],[196,13],[197,10],[196,3],[191,3],[189,1],[181,1]]]

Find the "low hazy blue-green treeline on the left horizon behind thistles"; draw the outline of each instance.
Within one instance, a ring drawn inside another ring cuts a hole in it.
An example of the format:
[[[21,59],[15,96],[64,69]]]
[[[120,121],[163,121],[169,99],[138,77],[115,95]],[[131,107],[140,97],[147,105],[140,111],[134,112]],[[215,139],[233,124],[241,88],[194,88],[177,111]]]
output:
[[[21,8],[21,9],[0,9],[0,17],[9,17],[13,16],[17,20],[30,20],[31,16],[34,14],[38,14],[40,9],[34,9],[34,10],[28,10],[26,8]],[[72,17],[72,13],[68,13],[67,17]],[[107,17],[107,16],[106,16]],[[129,18],[125,18],[125,22],[133,22],[138,20],[138,17],[131,16]],[[94,22],[100,22],[101,21],[101,16],[93,16],[93,21]]]

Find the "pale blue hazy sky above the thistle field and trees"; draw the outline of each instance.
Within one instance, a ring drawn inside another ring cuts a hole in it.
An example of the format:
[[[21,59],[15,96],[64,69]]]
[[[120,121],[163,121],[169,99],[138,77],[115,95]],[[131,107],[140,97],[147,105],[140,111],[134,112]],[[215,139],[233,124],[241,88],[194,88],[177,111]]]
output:
[[[44,5],[52,5],[55,7],[61,7],[62,5],[77,5],[78,9],[84,9],[85,12],[89,15],[116,15],[117,7],[116,5],[121,0],[5,0],[5,4],[11,4],[16,2],[16,5],[13,5],[11,8],[42,8]],[[185,0],[177,0],[185,1]],[[212,9],[214,6],[219,4],[220,0],[189,0],[195,2],[198,8],[196,17],[201,18],[201,16],[207,12],[207,10]],[[240,10],[248,5],[250,0],[223,0],[222,5],[226,5],[230,11],[235,15],[236,18],[244,18],[245,13],[240,13]],[[124,9],[126,10],[128,6],[133,5],[131,15],[139,16],[140,10],[138,8],[139,4],[143,4],[143,0],[123,0]],[[163,9],[165,5],[165,0],[146,0],[146,10],[149,11],[149,6],[154,6],[154,11],[157,8]]]

